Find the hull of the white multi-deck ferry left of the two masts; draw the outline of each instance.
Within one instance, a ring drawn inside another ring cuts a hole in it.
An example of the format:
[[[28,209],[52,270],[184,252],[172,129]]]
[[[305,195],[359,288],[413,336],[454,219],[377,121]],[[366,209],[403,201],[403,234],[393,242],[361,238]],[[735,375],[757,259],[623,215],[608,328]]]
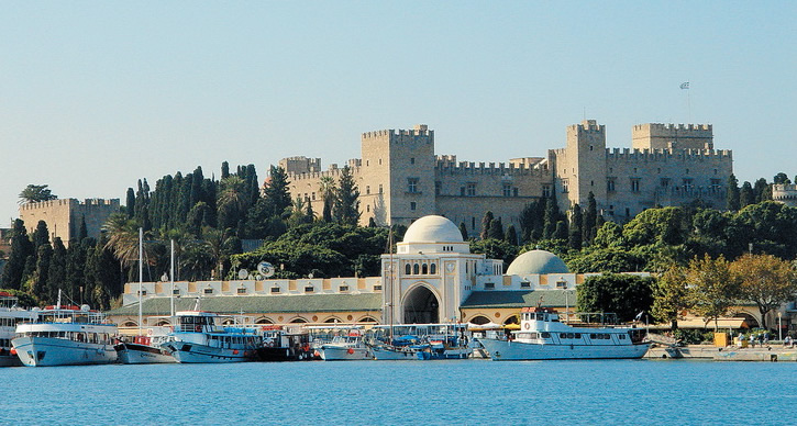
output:
[[[111,345],[73,341],[52,337],[18,337],[11,340],[26,367],[111,363],[117,351]]]

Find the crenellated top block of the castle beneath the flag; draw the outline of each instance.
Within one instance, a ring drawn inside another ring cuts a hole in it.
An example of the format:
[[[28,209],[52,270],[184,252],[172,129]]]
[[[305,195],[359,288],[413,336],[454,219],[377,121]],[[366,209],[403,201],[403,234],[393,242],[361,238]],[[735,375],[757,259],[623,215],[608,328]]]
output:
[[[638,124],[631,139],[634,149],[713,149],[713,128],[711,124]]]

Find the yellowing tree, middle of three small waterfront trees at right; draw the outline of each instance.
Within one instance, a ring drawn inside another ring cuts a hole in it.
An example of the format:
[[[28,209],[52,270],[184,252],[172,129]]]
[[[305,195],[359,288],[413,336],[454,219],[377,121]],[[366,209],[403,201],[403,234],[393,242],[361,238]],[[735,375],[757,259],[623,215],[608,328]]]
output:
[[[720,256],[711,258],[695,257],[689,261],[685,273],[686,285],[689,288],[689,299],[696,314],[715,321],[728,314],[739,298],[739,281],[731,273],[730,262]]]

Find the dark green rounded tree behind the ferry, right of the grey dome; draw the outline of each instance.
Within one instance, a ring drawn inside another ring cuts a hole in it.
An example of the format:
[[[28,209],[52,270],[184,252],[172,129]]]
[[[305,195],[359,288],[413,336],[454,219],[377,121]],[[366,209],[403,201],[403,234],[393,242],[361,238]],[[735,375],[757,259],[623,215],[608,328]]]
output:
[[[613,312],[621,322],[632,321],[653,304],[653,279],[623,273],[588,277],[576,287],[578,310]]]

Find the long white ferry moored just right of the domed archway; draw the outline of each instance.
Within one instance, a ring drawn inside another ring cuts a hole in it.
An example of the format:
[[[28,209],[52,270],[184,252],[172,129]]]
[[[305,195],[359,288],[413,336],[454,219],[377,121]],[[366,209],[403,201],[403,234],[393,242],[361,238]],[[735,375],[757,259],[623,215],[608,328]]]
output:
[[[520,329],[506,338],[477,339],[495,361],[642,358],[650,347],[645,330],[633,327],[574,327],[546,307],[525,307]]]

